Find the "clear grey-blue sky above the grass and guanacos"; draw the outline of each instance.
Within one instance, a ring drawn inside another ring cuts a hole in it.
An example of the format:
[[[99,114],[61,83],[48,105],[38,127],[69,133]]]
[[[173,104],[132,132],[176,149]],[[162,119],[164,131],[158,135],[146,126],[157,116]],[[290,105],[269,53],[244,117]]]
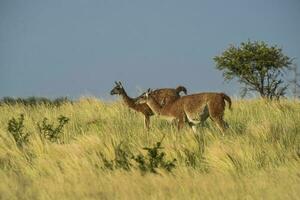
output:
[[[237,95],[213,57],[248,39],[300,59],[299,0],[0,0],[0,97]],[[299,65],[299,64],[298,64]]]

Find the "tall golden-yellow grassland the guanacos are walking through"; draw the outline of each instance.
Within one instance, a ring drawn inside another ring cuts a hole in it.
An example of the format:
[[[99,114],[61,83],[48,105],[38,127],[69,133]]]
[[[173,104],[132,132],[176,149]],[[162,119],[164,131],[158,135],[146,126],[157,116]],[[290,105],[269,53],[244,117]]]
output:
[[[8,121],[24,114],[28,144],[18,147]],[[37,123],[70,119],[61,142],[43,140]],[[53,107],[0,106],[0,199],[300,199],[300,102],[236,100],[223,137],[209,120],[195,135],[178,132],[121,102],[81,99]],[[122,144],[130,154],[162,141],[171,171],[107,167]],[[120,145],[119,145],[120,146]],[[105,159],[103,159],[105,158]]]

